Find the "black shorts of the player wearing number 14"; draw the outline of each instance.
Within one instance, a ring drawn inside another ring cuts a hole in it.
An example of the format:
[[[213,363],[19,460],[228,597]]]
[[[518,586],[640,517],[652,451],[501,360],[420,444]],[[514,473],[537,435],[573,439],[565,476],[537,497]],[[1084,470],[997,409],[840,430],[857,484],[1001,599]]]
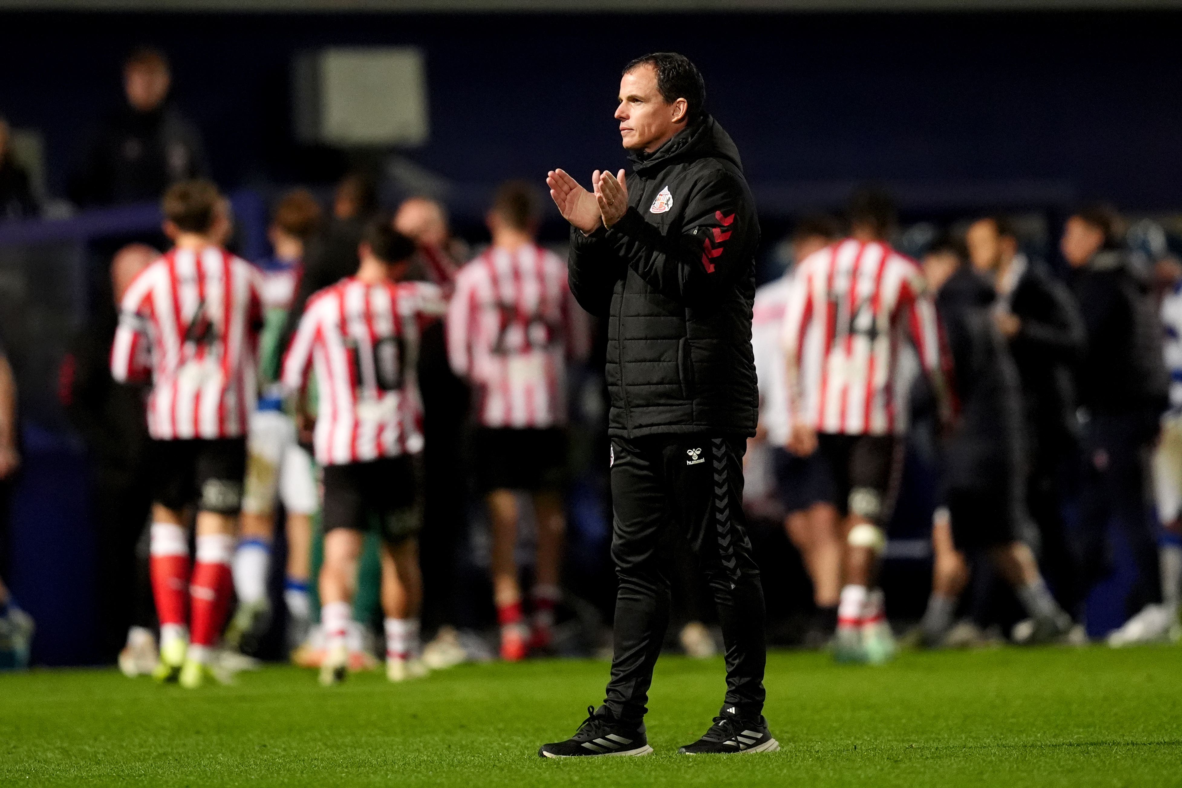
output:
[[[817,436],[833,482],[833,504],[843,516],[856,514],[885,526],[895,508],[902,476],[903,442],[894,435]]]

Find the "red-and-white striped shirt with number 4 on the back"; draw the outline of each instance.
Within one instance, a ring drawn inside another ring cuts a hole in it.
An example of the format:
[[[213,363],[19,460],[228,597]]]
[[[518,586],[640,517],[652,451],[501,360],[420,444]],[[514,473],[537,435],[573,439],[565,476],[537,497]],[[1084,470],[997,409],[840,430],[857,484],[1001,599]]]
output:
[[[147,351],[151,437],[246,434],[262,315],[251,263],[215,246],[173,249],[136,276],[119,311],[111,375],[119,382],[136,377]]]

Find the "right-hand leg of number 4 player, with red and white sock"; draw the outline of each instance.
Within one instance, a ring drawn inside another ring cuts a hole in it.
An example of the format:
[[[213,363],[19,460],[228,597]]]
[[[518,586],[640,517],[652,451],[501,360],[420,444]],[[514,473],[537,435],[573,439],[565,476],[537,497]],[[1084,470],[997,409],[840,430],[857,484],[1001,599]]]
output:
[[[213,649],[233,599],[230,567],[242,509],[246,439],[200,441],[196,447],[197,551],[189,585],[191,637],[182,686],[196,688],[212,675]]]

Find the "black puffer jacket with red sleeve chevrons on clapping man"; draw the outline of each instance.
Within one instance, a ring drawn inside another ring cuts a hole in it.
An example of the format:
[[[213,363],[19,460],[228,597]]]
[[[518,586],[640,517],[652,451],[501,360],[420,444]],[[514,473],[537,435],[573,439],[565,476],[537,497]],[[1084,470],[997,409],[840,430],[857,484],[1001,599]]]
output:
[[[609,432],[754,435],[759,221],[739,151],[707,116],[631,161],[624,217],[571,232],[571,291],[609,315]]]

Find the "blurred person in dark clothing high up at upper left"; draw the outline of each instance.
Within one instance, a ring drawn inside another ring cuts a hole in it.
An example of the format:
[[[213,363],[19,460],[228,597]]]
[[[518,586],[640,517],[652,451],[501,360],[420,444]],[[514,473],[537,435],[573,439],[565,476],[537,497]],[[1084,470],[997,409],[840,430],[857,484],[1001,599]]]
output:
[[[147,202],[170,184],[209,175],[201,132],[169,99],[173,76],[160,50],[141,47],[123,61],[125,102],[90,139],[70,182],[83,207]]]

